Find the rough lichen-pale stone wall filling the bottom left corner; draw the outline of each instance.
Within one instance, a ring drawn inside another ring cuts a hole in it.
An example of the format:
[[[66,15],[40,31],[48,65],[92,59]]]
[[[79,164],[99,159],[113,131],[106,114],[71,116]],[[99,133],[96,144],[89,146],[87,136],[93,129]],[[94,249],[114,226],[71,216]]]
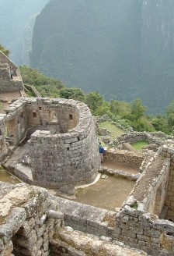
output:
[[[0,202],[1,255],[49,255],[50,239],[61,226],[62,215],[57,212],[52,219],[56,204],[47,190],[0,183]]]

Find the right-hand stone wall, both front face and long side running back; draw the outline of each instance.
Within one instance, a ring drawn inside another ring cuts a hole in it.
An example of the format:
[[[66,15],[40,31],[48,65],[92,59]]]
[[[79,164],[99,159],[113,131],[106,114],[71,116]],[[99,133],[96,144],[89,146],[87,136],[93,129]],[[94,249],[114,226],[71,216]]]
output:
[[[159,148],[144,165],[115,223],[115,239],[151,255],[174,253],[174,223],[158,219],[165,204],[170,157],[174,153],[170,146],[166,148]]]

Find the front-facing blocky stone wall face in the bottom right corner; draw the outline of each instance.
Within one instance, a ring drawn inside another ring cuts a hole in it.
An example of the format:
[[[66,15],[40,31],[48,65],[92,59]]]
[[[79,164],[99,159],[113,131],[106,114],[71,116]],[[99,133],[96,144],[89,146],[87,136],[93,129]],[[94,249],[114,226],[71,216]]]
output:
[[[151,255],[172,256],[174,224],[160,220],[142,210],[125,205],[117,214],[115,239],[148,252]]]

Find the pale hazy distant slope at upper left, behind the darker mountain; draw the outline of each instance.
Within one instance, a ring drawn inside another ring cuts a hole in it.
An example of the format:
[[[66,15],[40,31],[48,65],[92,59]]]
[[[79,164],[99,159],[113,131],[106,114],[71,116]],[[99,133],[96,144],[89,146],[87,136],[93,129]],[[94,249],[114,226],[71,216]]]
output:
[[[33,26],[49,0],[0,0],[0,40],[17,65],[29,64]]]

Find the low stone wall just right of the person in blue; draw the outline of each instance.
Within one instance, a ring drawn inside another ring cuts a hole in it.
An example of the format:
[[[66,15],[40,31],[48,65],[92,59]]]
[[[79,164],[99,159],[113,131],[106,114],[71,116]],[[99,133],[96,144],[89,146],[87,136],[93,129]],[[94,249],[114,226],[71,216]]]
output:
[[[127,163],[130,165],[141,165],[145,153],[141,151],[106,150],[103,158],[111,162]]]

